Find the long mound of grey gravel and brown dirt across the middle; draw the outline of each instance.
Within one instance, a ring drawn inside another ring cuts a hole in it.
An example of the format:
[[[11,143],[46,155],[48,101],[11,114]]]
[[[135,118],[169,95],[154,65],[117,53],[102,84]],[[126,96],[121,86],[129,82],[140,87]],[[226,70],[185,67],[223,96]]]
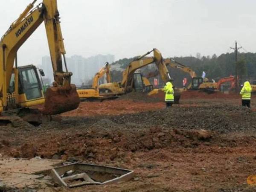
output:
[[[2,129],[0,143],[3,153],[12,157],[66,158],[71,155],[113,160],[122,158],[127,151],[197,146],[198,141],[211,140],[219,133],[256,133],[255,114],[247,108],[219,105],[176,106],[119,116],[66,116],[35,129],[15,129],[15,134],[20,134],[18,138],[12,134],[14,129]]]

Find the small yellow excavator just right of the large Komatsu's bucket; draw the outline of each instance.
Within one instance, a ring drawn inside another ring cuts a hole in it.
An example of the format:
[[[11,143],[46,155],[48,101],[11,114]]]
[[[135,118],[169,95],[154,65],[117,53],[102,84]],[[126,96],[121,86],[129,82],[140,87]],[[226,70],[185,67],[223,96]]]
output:
[[[98,73],[93,77],[92,88],[89,89],[78,89],[77,93],[80,99],[102,99],[103,96],[99,95],[99,79],[106,74],[106,80],[108,83],[111,82],[110,76],[110,64],[108,62],[99,70]]]

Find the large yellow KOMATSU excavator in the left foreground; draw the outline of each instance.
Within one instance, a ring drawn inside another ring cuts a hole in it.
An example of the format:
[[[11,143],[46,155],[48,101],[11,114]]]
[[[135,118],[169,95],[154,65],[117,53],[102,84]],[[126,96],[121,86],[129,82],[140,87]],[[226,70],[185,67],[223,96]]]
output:
[[[70,84],[72,73],[67,70],[57,0],[43,0],[34,8],[36,1],[26,7],[0,41],[0,122],[4,124],[15,124],[21,118],[34,122],[35,116],[55,115],[79,106],[76,86]],[[45,96],[35,66],[17,66],[18,49],[43,22],[54,72],[53,87]],[[40,104],[44,108],[35,108]]]

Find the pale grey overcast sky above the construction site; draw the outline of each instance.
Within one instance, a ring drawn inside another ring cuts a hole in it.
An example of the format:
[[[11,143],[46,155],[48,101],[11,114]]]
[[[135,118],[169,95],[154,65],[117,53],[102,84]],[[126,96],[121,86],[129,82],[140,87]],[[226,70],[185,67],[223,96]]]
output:
[[[31,2],[1,0],[1,35]],[[152,48],[163,57],[220,55],[235,40],[256,52],[255,7],[255,0],[58,0],[67,56],[110,53],[116,60]],[[18,54],[20,65],[49,55],[43,24]]]

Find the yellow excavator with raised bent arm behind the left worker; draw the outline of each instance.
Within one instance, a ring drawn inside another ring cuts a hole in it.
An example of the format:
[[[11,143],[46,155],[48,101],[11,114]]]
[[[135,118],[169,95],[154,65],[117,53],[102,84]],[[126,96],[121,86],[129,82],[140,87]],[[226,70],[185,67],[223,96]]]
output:
[[[154,56],[148,56],[153,52]],[[153,49],[144,55],[137,57],[132,61],[128,67],[122,73],[121,82],[113,82],[108,84],[101,84],[99,86],[99,92],[101,96],[110,96],[110,95],[122,95],[125,93],[130,93],[133,90],[137,92],[150,92],[153,89],[153,86],[148,84],[145,85],[145,78],[143,82],[143,77],[140,72],[136,70],[145,67],[149,64],[155,63],[161,79],[164,82],[171,80],[169,71],[167,70],[166,65],[164,64],[164,59],[159,50]],[[180,99],[179,90],[175,89],[175,103],[178,103]]]

